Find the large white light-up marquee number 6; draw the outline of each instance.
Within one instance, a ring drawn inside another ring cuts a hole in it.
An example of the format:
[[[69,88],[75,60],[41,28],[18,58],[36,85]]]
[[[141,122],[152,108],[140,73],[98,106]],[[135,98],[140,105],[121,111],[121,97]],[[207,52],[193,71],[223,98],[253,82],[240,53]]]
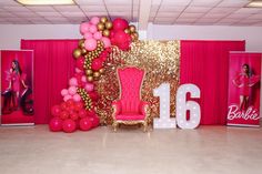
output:
[[[200,124],[201,110],[199,103],[187,101],[187,93],[191,98],[200,98],[200,89],[194,84],[182,84],[177,93],[177,122],[181,129],[195,129]],[[187,111],[190,111],[190,119],[187,120]]]

